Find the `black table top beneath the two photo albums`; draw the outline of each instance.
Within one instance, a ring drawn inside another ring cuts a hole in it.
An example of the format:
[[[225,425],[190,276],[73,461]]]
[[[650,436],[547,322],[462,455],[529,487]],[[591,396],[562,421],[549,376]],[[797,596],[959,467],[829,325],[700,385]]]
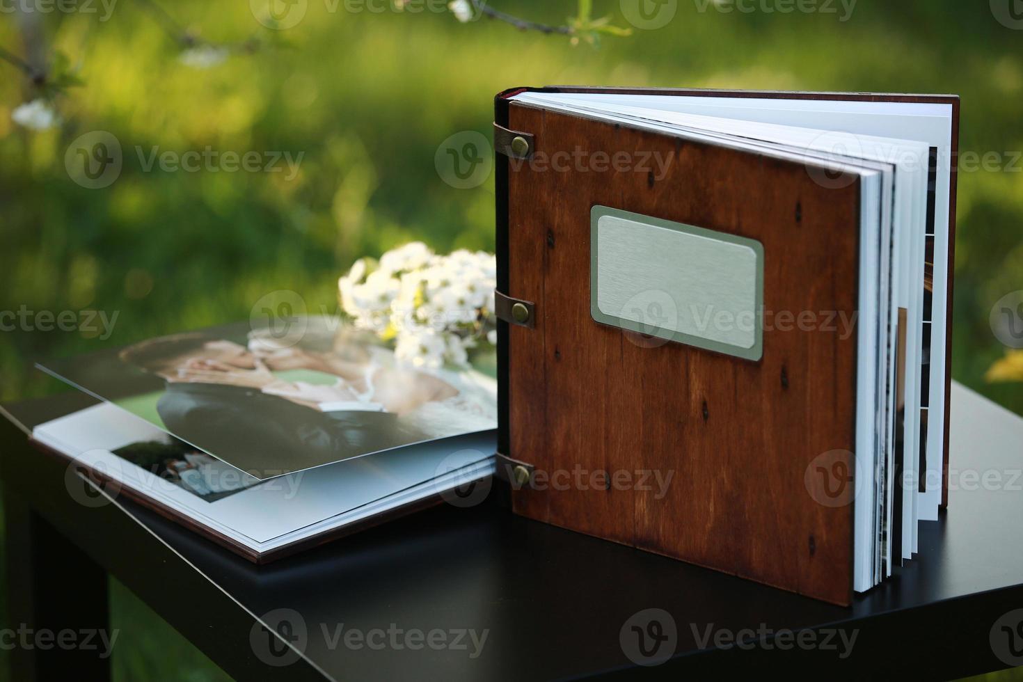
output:
[[[31,429],[91,402],[71,394],[6,409]],[[999,639],[1006,615],[1023,608],[1023,420],[958,385],[948,510],[921,524],[915,560],[849,608],[514,516],[499,489],[480,507],[437,507],[258,566],[123,498],[75,502],[66,463],[7,435],[5,496],[239,679],[632,674],[636,632],[655,661],[673,652],[643,672],[676,678],[771,666],[953,678],[1009,667],[1017,650],[1023,665],[1023,636],[1008,639],[1015,622]],[[801,630],[804,644],[785,647]],[[703,641],[729,633],[743,645]]]

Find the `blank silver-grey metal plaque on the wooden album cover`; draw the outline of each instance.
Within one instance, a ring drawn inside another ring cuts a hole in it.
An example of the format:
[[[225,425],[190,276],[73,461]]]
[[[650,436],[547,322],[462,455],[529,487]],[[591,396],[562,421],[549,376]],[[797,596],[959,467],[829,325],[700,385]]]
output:
[[[594,206],[590,314],[604,324],[759,360],[763,244]]]

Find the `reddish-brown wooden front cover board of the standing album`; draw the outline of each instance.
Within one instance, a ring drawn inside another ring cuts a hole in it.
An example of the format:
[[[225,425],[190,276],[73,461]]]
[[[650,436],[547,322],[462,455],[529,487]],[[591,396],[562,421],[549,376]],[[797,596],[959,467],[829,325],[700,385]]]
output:
[[[848,604],[852,505],[818,504],[804,473],[825,452],[854,449],[855,337],[768,328],[763,359],[749,362],[597,324],[589,216],[603,204],[758,239],[765,310],[851,316],[858,183],[825,188],[800,164],[517,102],[507,119],[547,158],[632,160],[604,172],[511,162],[498,187],[506,292],[537,304],[535,329],[508,330],[501,371],[505,454],[537,469],[532,488],[513,491],[515,511]],[[663,177],[639,163],[655,153],[670,160]]]

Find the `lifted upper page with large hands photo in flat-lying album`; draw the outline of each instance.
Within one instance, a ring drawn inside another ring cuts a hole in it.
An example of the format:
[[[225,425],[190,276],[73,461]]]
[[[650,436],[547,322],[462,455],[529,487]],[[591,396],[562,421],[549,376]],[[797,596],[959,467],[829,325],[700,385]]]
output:
[[[40,368],[258,480],[497,424],[490,377],[400,364],[331,318],[161,336]]]

